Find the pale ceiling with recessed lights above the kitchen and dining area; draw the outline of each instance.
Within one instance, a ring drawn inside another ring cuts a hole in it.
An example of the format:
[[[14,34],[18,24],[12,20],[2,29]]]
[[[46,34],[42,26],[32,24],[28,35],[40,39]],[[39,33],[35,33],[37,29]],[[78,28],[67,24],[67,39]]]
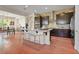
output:
[[[25,5],[0,5],[0,10],[27,16],[33,12],[42,13],[49,11],[58,11],[73,7],[74,5],[28,5],[28,7],[25,8]]]

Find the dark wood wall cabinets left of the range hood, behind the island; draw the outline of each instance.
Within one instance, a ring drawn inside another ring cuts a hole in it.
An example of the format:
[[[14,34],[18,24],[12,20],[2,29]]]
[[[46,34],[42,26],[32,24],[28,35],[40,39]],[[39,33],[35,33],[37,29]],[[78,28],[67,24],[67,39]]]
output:
[[[35,17],[34,28],[41,29],[43,26],[46,28],[49,24],[49,16],[38,16]]]

